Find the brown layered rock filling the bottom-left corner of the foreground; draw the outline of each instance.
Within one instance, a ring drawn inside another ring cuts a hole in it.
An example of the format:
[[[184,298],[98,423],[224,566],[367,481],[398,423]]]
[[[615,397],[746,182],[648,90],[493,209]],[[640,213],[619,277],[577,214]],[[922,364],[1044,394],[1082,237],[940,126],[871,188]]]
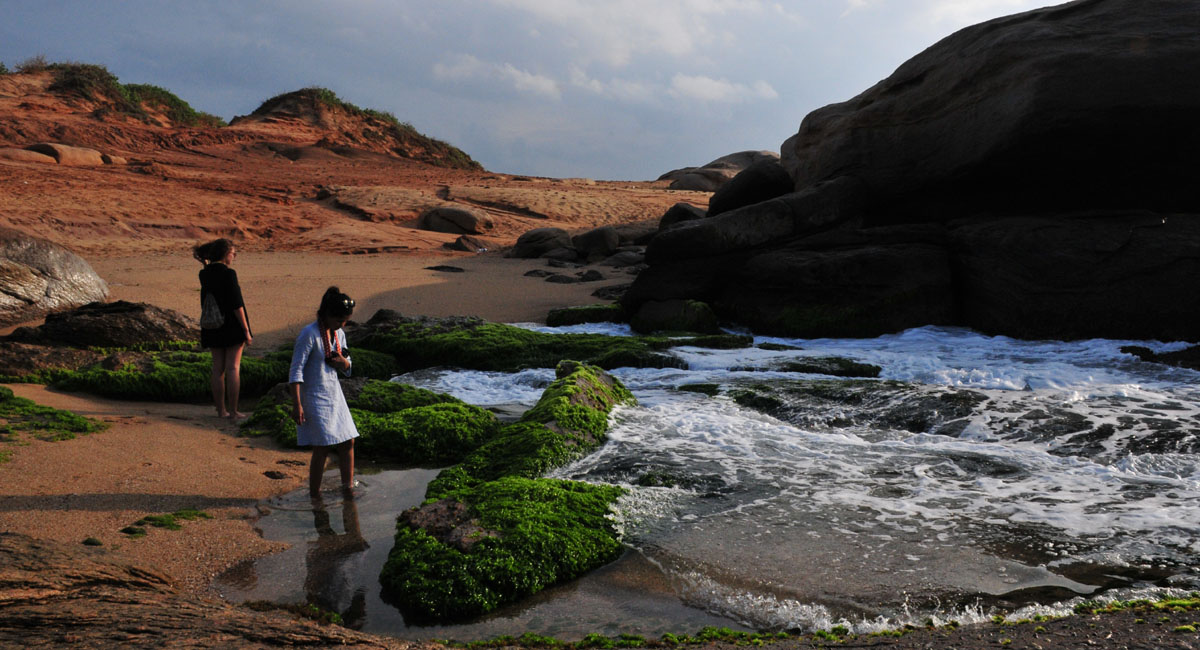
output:
[[[415,648],[181,594],[109,552],[0,532],[4,648]]]

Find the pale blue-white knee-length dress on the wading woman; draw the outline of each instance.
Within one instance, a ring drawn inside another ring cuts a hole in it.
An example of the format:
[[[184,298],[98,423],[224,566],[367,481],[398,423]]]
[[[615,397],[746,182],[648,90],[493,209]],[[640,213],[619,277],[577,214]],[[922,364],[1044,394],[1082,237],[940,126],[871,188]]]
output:
[[[346,332],[337,330],[335,335],[344,350]],[[346,375],[349,374],[347,371]],[[300,384],[300,405],[305,415],[304,425],[296,425],[296,443],[300,446],[336,445],[358,438],[359,429],[346,405],[337,371],[325,363],[325,348],[317,323],[300,330],[296,337],[288,381]]]

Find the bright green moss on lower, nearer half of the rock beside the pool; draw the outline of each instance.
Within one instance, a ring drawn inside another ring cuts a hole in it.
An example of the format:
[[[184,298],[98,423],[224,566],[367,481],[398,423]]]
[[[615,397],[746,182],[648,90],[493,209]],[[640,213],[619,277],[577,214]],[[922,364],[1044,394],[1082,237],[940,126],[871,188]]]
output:
[[[400,524],[380,574],[388,598],[410,620],[456,620],[577,577],[622,550],[611,505],[618,487],[504,477],[455,492],[498,532],[469,552]]]

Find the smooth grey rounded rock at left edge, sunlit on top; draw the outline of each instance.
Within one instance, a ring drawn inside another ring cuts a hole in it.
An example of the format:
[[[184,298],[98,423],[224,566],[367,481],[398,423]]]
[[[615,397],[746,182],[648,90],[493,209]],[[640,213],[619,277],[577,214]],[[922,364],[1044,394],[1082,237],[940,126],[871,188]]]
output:
[[[79,255],[49,241],[0,228],[0,325],[108,296],[108,284]]]

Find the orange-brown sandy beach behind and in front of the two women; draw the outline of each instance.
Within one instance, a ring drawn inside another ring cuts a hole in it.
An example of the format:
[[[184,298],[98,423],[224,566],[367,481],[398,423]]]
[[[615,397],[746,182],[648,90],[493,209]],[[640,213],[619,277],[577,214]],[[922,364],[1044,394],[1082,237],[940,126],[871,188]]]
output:
[[[91,263],[109,283],[110,300],[199,313],[199,265],[186,247],[178,254]],[[463,271],[426,269],[436,265]],[[514,323],[542,320],[554,307],[598,302],[590,295],[596,288],[630,279],[619,271],[604,282],[580,284],[524,277],[545,266],[545,260],[498,254],[287,252],[240,253],[234,264],[254,329],[248,354],[289,343],[330,284],[355,297],[355,315],[364,320],[390,308],[406,315]],[[8,386],[19,397],[102,420],[109,428],[73,440],[14,446],[12,459],[0,464],[0,530],[68,543],[95,537],[131,561],[163,570],[191,592],[208,592],[212,578],[230,566],[283,548],[254,530],[256,504],[305,485],[307,450],[241,438],[209,404],[118,402],[41,385]],[[251,407],[244,404],[242,410]],[[142,517],[181,508],[212,518],[184,522],[181,530],[148,528],[140,538],[120,532]]]

